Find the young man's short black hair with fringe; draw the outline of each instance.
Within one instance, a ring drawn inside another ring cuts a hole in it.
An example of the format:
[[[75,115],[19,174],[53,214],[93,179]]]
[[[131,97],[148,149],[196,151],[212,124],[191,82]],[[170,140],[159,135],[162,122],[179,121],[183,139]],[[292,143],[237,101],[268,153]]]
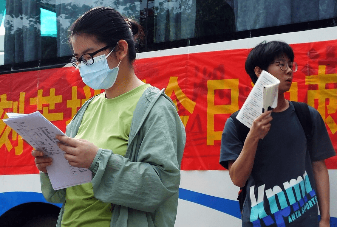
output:
[[[267,71],[270,63],[273,63],[276,57],[286,55],[290,61],[294,61],[294,51],[289,44],[282,41],[263,41],[257,44],[248,54],[245,63],[245,69],[250,76],[252,82],[255,84],[257,76],[255,74],[255,67],[258,66],[262,70]]]

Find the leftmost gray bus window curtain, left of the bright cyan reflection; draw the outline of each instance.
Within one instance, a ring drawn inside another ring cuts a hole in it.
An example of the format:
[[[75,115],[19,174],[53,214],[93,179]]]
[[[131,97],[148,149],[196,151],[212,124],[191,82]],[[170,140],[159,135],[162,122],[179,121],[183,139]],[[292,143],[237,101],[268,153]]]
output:
[[[4,64],[41,59],[40,0],[6,0]]]

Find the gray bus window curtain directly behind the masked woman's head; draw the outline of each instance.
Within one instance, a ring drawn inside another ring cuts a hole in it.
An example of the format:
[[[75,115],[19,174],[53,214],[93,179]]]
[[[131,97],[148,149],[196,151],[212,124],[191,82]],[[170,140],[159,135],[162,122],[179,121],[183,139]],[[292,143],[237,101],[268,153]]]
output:
[[[125,17],[139,18],[141,0],[54,0],[57,17],[57,47],[58,57],[73,54],[68,44],[68,29],[70,25],[87,10],[96,6],[109,6],[119,11]]]

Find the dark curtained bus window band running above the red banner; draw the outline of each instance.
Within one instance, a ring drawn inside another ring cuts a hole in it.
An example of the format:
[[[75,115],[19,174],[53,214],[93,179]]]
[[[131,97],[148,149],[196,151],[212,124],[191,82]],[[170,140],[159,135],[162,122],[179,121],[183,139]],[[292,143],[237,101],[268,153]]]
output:
[[[96,6],[113,7],[143,25],[146,40],[139,52],[337,26],[337,0],[0,0],[0,4],[0,15],[5,14],[0,72],[69,63],[67,30]]]

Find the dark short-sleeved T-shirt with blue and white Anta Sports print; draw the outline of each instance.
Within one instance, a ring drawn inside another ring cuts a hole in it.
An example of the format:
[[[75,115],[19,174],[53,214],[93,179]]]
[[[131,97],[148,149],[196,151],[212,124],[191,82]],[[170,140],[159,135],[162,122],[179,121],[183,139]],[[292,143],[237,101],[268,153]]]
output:
[[[246,226],[318,226],[317,196],[311,162],[335,155],[325,123],[309,106],[312,119],[312,146],[307,141],[290,102],[282,112],[272,112],[271,129],[259,140],[242,224]],[[243,144],[233,119],[228,118],[221,140],[220,162],[236,160]]]

